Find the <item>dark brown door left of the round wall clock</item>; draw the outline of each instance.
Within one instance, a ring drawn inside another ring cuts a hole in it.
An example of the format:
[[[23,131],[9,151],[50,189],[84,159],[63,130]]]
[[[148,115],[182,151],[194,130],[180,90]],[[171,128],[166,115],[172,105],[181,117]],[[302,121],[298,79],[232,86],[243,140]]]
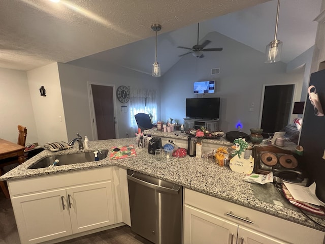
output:
[[[113,87],[92,84],[91,90],[98,139],[115,139]]]

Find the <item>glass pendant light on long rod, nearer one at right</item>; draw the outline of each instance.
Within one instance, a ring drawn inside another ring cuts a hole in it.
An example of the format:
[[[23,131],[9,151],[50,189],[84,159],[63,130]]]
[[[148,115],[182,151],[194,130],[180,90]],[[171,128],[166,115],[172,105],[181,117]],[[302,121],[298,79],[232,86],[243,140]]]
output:
[[[275,63],[280,61],[281,59],[281,50],[282,50],[282,42],[276,39],[276,34],[278,31],[278,20],[279,20],[279,8],[280,8],[280,0],[278,0],[278,8],[276,12],[276,22],[275,22],[275,32],[274,32],[274,40],[266,46],[265,50],[265,63]]]

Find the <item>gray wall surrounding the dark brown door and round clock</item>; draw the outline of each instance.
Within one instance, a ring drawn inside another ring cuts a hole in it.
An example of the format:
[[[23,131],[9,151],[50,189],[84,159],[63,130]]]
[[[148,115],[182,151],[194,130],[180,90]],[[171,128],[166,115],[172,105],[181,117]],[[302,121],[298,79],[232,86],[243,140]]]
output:
[[[159,78],[139,73],[133,70],[106,64],[97,64],[87,59],[78,60],[71,64],[58,64],[64,114],[66,116],[69,140],[75,138],[76,132],[83,137],[93,140],[90,106],[88,100],[88,82],[111,84],[117,88],[120,85],[142,87],[157,90],[157,106],[160,107]],[[91,67],[91,68],[85,68]],[[115,92],[115,91],[114,91]],[[117,124],[119,138],[126,137],[126,133],[133,137],[134,131],[130,128],[129,102],[122,104],[116,101]],[[127,113],[121,112],[121,106],[127,106]],[[158,117],[160,110],[158,110]]]

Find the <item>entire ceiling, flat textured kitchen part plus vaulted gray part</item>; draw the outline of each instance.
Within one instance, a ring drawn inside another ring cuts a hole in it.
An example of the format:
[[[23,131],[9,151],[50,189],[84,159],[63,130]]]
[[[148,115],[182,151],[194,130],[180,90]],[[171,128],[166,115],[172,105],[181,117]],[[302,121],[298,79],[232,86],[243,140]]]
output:
[[[313,19],[320,4],[321,0],[281,1],[278,39],[283,41],[283,62],[314,44]],[[197,22],[200,39],[216,31],[264,52],[274,38],[277,1],[2,0],[1,5],[0,68],[30,70],[90,55],[88,60],[150,73],[152,24],[163,26],[158,33],[158,62],[166,72],[184,53],[177,46],[196,44]]]

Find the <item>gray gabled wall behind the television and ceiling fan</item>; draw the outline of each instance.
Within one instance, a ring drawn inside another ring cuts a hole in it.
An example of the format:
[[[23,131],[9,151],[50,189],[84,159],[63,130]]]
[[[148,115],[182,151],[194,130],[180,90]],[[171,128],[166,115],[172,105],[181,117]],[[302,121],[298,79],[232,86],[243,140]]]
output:
[[[186,98],[220,97],[219,129],[236,130],[240,121],[242,131],[250,134],[250,128],[259,126],[263,85],[301,86],[303,82],[302,72],[287,74],[286,64],[282,62],[264,64],[264,53],[233,39],[216,32],[209,33],[205,39],[212,41],[207,48],[223,47],[223,50],[205,52],[204,58],[185,55],[164,75],[160,85],[162,118],[172,117],[183,123]],[[220,74],[211,75],[212,68],[220,68]],[[216,81],[215,94],[193,94],[193,82],[202,80]],[[300,97],[301,90],[298,93]]]

